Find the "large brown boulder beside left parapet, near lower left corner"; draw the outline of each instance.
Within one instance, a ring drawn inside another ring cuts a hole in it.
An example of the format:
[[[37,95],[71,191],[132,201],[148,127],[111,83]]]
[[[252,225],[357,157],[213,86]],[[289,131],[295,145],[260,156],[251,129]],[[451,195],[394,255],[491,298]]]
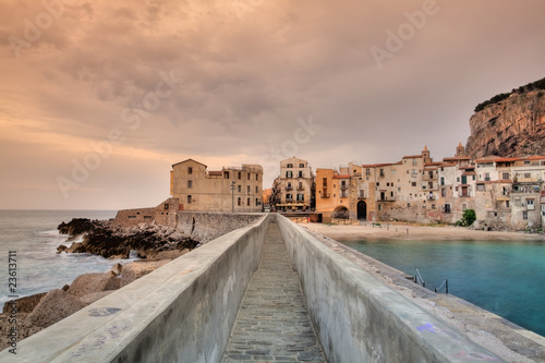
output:
[[[85,307],[85,304],[76,297],[59,289],[51,290],[28,314],[26,323],[46,328],[83,307]]]

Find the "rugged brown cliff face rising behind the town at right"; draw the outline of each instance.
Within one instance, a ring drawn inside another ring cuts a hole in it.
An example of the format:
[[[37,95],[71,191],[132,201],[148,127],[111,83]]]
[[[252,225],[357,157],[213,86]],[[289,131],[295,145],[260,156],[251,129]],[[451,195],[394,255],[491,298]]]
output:
[[[465,152],[473,159],[488,155],[545,155],[545,92],[514,93],[470,119]]]

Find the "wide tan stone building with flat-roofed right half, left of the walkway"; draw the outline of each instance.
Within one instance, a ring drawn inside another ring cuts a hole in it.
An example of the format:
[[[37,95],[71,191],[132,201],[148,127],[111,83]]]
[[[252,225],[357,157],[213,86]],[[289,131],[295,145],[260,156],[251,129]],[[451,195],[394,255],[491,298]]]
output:
[[[242,165],[208,171],[206,165],[187,159],[172,166],[170,195],[180,210],[262,211],[263,168]]]

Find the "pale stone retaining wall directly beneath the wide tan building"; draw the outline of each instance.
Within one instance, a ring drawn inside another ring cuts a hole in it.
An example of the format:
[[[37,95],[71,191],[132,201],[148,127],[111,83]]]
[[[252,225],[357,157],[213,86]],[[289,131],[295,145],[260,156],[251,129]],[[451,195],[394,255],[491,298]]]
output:
[[[177,229],[201,242],[211,241],[262,218],[262,214],[179,211]]]

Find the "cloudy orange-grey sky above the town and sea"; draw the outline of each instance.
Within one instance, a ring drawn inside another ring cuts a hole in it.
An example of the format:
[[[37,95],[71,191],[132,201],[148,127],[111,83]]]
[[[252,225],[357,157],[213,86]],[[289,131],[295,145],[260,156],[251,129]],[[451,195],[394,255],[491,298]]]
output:
[[[193,158],[452,156],[545,76],[543,0],[0,0],[0,209],[169,197]]]

